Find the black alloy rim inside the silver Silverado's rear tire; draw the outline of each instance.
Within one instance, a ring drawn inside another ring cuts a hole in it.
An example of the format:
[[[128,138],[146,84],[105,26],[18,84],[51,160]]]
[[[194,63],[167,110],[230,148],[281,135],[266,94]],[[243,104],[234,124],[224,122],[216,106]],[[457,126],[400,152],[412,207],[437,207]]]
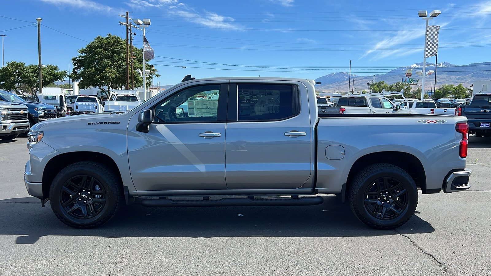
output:
[[[365,209],[374,218],[387,221],[399,217],[408,208],[408,190],[392,177],[375,180],[365,190]]]

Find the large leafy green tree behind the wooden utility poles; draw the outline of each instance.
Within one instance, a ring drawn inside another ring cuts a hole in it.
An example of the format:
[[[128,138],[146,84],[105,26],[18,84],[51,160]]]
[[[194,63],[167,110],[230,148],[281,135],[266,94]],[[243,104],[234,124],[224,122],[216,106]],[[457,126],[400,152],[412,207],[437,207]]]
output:
[[[97,36],[79,50],[78,56],[72,58],[73,71],[70,74],[72,80],[79,81],[79,87],[98,87],[103,93],[109,95],[110,89],[122,88],[126,84],[126,42],[117,35],[108,34],[105,37]],[[143,85],[143,78],[136,73],[137,69],[143,70],[143,50],[133,47],[133,60],[135,70],[135,87]],[[152,84],[152,78],[160,77],[153,65],[146,64],[146,69],[151,74],[147,77],[147,87]],[[131,82],[131,78],[130,78]]]

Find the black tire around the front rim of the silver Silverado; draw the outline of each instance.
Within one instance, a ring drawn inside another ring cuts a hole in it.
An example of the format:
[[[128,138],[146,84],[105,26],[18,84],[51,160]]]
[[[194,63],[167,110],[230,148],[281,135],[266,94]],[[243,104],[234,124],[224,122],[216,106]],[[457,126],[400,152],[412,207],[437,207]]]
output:
[[[114,184],[111,185],[110,178],[103,172],[101,172],[97,167],[76,167],[74,165],[76,164],[72,164],[71,166],[62,169],[53,180],[50,189],[50,201],[52,208],[64,220],[68,221],[70,224],[75,224],[78,226],[88,226],[109,220],[112,217],[111,212],[113,212],[113,210],[116,208],[118,201],[116,191],[113,187]],[[70,178],[78,175],[87,175],[94,177],[95,179],[97,179],[97,181],[99,181],[99,183],[103,186],[104,191],[106,192],[106,202],[104,204],[103,210],[95,217],[86,220],[77,219],[67,214],[64,208],[61,206],[60,201],[60,193],[63,185]]]

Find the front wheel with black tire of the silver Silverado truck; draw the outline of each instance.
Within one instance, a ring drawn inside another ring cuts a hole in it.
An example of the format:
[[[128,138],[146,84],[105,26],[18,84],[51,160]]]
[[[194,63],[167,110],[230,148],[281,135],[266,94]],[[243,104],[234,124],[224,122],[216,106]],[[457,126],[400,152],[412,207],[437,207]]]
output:
[[[121,183],[109,167],[93,161],[62,169],[50,189],[51,208],[63,223],[91,228],[109,221],[119,209]]]

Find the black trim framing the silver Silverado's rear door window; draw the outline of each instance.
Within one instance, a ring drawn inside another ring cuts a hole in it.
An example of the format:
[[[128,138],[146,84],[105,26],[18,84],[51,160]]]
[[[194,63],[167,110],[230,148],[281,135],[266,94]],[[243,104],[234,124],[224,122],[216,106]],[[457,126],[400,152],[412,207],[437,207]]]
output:
[[[273,85],[291,85],[292,86],[292,101],[293,101],[293,115],[281,118],[281,119],[273,119],[273,120],[244,120],[244,121],[239,121],[238,119],[238,113],[239,113],[239,107],[238,107],[238,97],[239,97],[239,84],[273,84]],[[235,85],[235,87],[233,86]],[[230,88],[234,87],[234,88]],[[235,93],[234,93],[235,92]],[[294,117],[297,117],[300,114],[300,89],[299,85],[296,83],[230,83],[229,86],[229,107],[227,109],[227,123],[250,123],[250,122],[279,122],[279,121],[284,121],[288,120]],[[232,103],[230,101],[233,101]],[[317,103],[316,103],[317,105]],[[234,112],[235,111],[235,112]],[[235,115],[235,120],[233,120]],[[231,118],[231,120],[229,120]]]

